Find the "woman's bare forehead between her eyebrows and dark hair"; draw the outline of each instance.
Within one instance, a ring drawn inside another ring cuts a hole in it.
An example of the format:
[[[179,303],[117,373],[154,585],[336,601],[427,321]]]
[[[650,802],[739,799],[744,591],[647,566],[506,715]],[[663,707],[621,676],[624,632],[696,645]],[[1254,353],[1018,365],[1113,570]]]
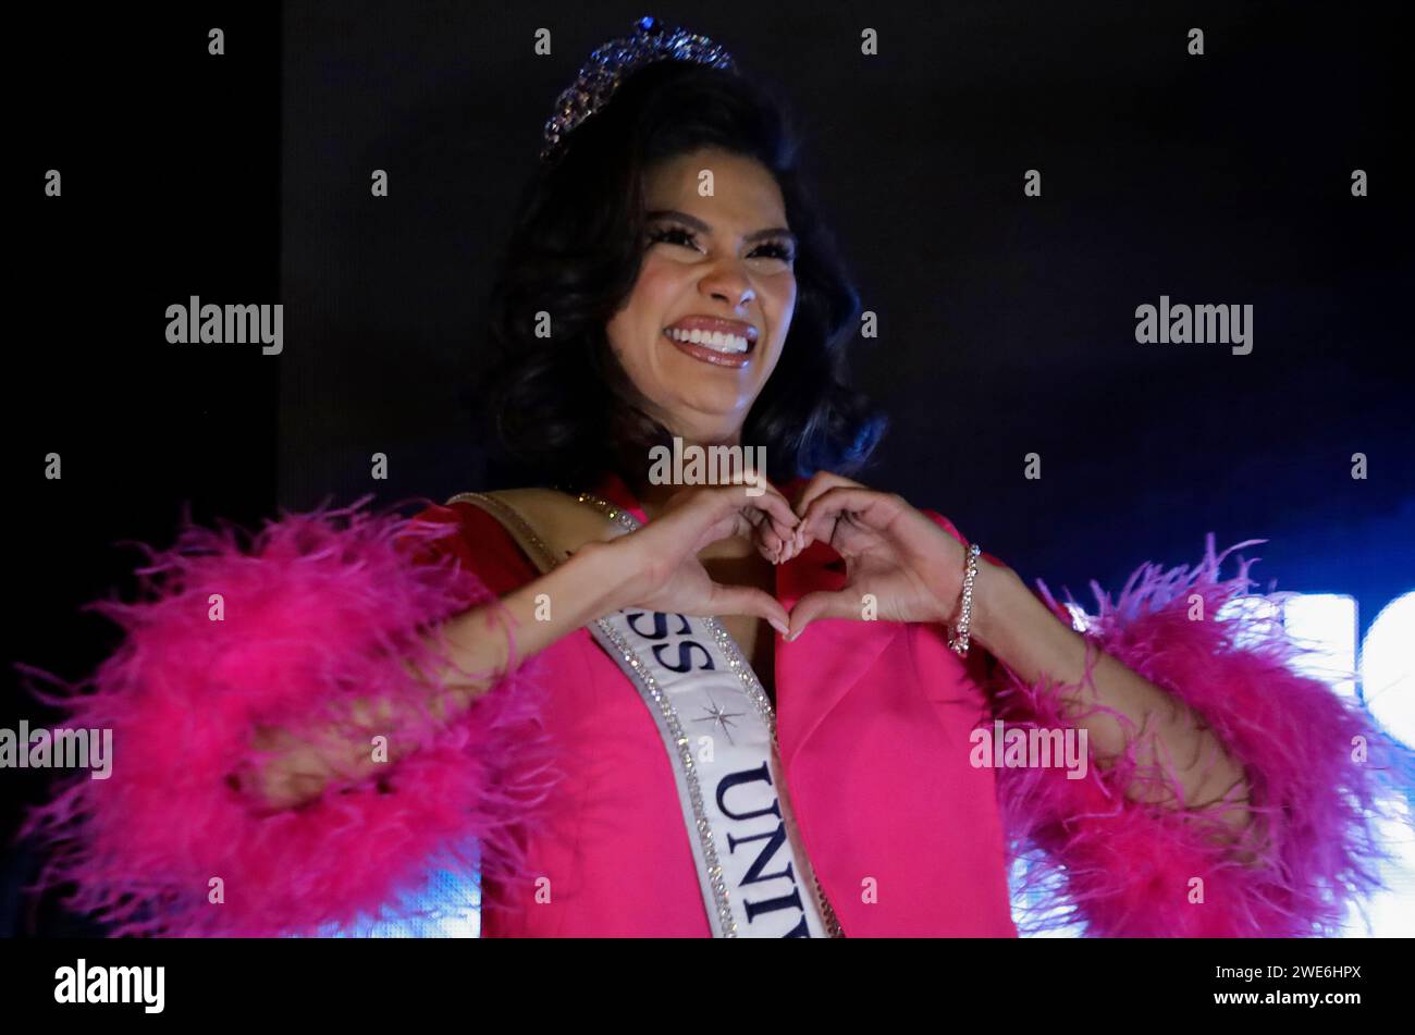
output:
[[[709,197],[699,192],[703,170],[712,172]],[[644,194],[649,209],[676,208],[709,221],[710,214],[717,214],[749,223],[785,223],[785,202],[777,178],[756,158],[720,148],[702,148],[657,163],[645,172]]]

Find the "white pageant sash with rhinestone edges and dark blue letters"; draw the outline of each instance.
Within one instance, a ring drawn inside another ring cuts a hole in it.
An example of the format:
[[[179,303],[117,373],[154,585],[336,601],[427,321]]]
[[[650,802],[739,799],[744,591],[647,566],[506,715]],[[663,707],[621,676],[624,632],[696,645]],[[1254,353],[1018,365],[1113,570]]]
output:
[[[545,574],[560,563],[509,493],[463,492]],[[580,501],[625,530],[640,522]],[[732,635],[710,616],[625,608],[586,626],[654,717],[668,752],[715,937],[839,937],[791,813],[775,714]]]

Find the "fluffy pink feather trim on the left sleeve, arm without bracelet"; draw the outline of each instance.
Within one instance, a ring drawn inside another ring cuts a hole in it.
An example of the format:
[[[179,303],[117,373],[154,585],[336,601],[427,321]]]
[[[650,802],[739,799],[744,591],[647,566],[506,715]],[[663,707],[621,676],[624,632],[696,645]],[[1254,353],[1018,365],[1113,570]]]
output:
[[[434,868],[526,877],[525,827],[558,779],[535,660],[437,723],[402,659],[430,670],[441,650],[417,633],[495,597],[440,556],[446,526],[365,502],[282,515],[249,549],[190,523],[167,551],[139,544],[144,598],[89,605],[125,628],[122,648],[91,689],[45,696],[64,725],[113,731],[113,766],[30,816],[55,848],[42,887],[75,882],[72,908],[115,935],[270,936],[406,915]],[[256,724],[316,728],[351,698],[392,703],[389,741],[419,747],[273,814],[228,783],[256,759]]]

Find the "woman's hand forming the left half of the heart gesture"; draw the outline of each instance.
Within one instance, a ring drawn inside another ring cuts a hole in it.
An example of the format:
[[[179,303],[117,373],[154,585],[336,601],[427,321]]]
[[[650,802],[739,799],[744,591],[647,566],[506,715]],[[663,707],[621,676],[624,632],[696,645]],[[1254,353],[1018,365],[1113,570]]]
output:
[[[746,485],[683,489],[654,520],[606,549],[618,551],[627,573],[616,594],[623,604],[645,611],[685,615],[751,615],[764,618],[781,635],[790,619],[781,602],[750,585],[715,583],[698,560],[712,543],[750,536],[768,560],[795,556],[799,519],[775,488],[757,496]]]

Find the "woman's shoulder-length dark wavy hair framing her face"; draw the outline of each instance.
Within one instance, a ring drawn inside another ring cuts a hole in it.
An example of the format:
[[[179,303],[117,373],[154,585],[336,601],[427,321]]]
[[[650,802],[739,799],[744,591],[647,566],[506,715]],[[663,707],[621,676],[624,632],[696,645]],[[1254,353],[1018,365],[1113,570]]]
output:
[[[522,478],[573,489],[608,468],[634,485],[647,450],[671,445],[672,433],[649,416],[610,348],[606,324],[644,257],[645,172],[705,146],[770,170],[798,238],[795,314],[741,444],[766,447],[767,476],[780,484],[819,469],[853,474],[883,435],[884,416],[846,382],[859,296],[802,184],[784,107],[737,74],[658,62],[574,129],[516,211],[492,287],[497,359],[481,409]],[[550,317],[549,337],[535,332],[539,312]]]

